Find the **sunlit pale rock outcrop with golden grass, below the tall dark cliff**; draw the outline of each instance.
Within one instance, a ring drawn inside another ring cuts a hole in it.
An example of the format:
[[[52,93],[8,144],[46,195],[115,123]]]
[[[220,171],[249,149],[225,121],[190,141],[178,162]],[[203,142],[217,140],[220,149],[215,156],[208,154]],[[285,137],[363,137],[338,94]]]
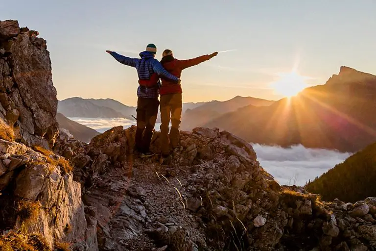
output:
[[[0,139],[0,230],[40,234],[49,248],[70,243],[78,250],[95,250],[96,235],[89,238],[87,233],[96,224],[85,215],[70,164],[37,150]]]

